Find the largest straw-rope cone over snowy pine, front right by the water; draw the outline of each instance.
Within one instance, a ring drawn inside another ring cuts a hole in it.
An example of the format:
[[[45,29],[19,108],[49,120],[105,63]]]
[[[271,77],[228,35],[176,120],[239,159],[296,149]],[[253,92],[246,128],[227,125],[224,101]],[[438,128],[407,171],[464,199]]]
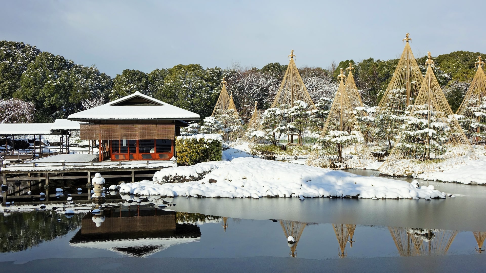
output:
[[[440,171],[478,159],[435,78],[430,52],[427,72],[399,140],[379,168],[390,176]]]

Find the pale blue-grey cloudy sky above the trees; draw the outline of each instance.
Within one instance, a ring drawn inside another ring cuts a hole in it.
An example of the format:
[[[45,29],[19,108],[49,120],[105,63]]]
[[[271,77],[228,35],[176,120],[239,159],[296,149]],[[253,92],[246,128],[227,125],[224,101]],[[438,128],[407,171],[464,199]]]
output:
[[[399,57],[406,32],[416,57],[486,52],[483,0],[3,0],[1,6],[0,40],[95,64],[112,77],[126,68],[150,72],[175,64],[287,64],[291,49],[298,66],[387,60]]]

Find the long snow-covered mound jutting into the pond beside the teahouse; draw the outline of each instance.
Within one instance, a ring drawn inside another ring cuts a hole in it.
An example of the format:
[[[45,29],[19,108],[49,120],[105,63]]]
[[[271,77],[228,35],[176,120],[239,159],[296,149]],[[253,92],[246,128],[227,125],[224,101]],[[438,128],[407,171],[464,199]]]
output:
[[[224,162],[224,163],[223,163]],[[196,177],[198,181],[163,183],[161,177]],[[158,182],[158,183],[157,183]],[[162,169],[154,181],[121,185],[120,193],[193,197],[359,197],[359,198],[445,198],[433,187],[384,177],[363,177],[343,171],[307,165],[236,158],[232,161],[199,163],[191,167]]]

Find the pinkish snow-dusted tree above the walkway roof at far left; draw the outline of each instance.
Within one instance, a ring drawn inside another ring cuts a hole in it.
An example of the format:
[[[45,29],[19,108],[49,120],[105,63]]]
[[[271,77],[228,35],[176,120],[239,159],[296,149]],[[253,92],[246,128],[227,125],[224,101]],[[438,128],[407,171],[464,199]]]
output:
[[[35,106],[18,98],[0,100],[0,123],[32,123]]]

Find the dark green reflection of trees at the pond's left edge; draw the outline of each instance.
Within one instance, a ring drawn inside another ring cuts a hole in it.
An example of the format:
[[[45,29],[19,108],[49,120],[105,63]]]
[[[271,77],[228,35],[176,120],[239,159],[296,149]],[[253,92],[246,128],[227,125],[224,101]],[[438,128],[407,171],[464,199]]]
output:
[[[81,225],[81,218],[80,213],[68,219],[52,210],[0,214],[0,252],[25,250],[66,235]]]

